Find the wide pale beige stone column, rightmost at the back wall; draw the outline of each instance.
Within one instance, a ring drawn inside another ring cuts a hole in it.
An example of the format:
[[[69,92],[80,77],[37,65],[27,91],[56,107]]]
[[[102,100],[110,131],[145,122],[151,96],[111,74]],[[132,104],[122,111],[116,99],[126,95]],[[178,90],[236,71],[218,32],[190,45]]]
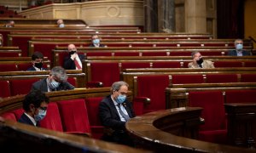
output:
[[[185,29],[189,33],[207,33],[206,0],[185,0]]]

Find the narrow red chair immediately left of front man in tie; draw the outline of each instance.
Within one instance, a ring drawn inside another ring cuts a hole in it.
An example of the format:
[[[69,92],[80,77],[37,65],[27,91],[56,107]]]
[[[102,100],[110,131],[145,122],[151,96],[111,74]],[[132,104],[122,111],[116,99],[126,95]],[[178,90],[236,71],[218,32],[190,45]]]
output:
[[[101,139],[103,134],[103,126],[98,117],[99,104],[103,97],[93,97],[85,99],[85,104],[88,111],[91,136],[95,139]]]

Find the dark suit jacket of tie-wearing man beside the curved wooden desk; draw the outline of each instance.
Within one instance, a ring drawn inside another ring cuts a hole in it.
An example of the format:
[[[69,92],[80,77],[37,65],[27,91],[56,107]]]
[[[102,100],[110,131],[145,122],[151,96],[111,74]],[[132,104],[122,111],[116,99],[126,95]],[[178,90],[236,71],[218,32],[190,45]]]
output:
[[[135,117],[131,103],[127,99],[125,99],[123,105],[130,118]],[[111,127],[113,130],[125,130],[125,122],[121,121],[110,95],[102,99],[99,105],[99,116],[104,127]]]

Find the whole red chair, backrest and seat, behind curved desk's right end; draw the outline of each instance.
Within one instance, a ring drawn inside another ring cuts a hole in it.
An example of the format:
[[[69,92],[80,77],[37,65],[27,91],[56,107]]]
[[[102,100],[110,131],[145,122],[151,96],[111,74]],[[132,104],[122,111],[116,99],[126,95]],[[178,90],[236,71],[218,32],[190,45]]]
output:
[[[222,92],[189,92],[189,106],[203,108],[201,117],[204,118],[205,124],[200,127],[199,139],[219,144],[226,143],[226,116]]]

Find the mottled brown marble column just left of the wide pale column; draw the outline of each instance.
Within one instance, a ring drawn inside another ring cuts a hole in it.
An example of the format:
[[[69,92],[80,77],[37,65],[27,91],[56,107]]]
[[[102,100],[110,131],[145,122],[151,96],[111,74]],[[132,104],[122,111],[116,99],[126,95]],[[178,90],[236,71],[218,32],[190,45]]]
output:
[[[175,32],[175,0],[158,1],[158,29],[160,32]]]

